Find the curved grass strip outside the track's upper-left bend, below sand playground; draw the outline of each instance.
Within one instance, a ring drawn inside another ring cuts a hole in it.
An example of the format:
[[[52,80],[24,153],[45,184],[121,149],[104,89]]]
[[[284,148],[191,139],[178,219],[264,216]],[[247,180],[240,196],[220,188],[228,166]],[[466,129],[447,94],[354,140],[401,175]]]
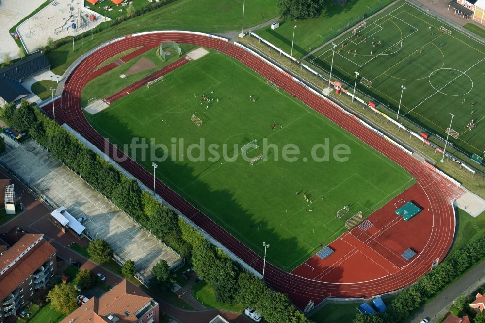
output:
[[[277,16],[276,0],[246,0],[244,25],[256,26]],[[52,71],[62,75],[67,67],[81,54],[121,35],[150,30],[190,30],[197,32],[229,32],[241,28],[242,0],[178,0],[129,19],[115,27],[50,51],[46,56],[52,64]],[[106,24],[109,24],[107,22]]]

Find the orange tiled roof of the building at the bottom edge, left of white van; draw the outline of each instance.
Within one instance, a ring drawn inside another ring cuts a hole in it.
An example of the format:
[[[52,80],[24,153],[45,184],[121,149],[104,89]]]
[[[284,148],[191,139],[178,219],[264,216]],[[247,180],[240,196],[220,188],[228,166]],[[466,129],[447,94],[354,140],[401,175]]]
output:
[[[106,319],[110,313],[120,319],[119,323],[136,322],[137,318],[133,313],[151,300],[152,298],[145,292],[123,280],[99,299],[93,297],[89,302],[81,305],[61,323],[68,323],[70,320],[74,320],[76,323],[110,322]],[[126,311],[128,311],[129,316],[125,315]]]

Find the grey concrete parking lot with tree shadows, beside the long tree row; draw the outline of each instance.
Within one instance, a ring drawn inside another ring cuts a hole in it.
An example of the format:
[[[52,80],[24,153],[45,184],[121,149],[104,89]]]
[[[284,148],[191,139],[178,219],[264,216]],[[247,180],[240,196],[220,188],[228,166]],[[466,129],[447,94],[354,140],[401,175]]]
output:
[[[122,259],[132,259],[143,277],[150,276],[151,268],[160,259],[171,267],[181,263],[176,252],[132,221],[35,141],[28,140],[2,155],[0,160],[55,207],[64,206],[75,218],[86,216],[83,225],[89,235],[106,240]]]

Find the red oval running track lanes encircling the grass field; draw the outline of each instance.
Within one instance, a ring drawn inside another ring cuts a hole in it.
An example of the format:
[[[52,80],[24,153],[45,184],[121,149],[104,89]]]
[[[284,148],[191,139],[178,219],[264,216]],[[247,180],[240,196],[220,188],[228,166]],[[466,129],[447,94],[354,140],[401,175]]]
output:
[[[391,160],[406,169],[427,192],[429,205],[433,216],[433,228],[429,238],[428,248],[420,252],[411,265],[399,272],[378,279],[353,282],[334,283],[315,281],[285,272],[271,264],[266,265],[265,281],[277,291],[288,293],[292,301],[300,308],[304,308],[311,299],[315,303],[325,297],[360,297],[383,294],[394,291],[415,282],[420,276],[427,273],[435,259],[443,259],[451,246],[455,218],[450,199],[446,195],[444,180],[436,180],[436,173],[420,161],[414,159],[400,148],[392,145],[383,137],[364,127],[353,117],[342,113],[333,103],[309,91],[305,86],[293,81],[288,75],[281,73],[257,56],[244,49],[218,38],[190,34],[186,32],[160,32],[129,36],[118,40],[84,58],[81,63],[68,76],[63,89],[63,95],[56,100],[56,115],[58,121],[67,123],[78,131],[84,138],[105,151],[109,146],[110,156],[122,156],[123,153],[111,144],[105,142],[87,122],[81,107],[81,91],[88,81],[93,78],[93,70],[103,61],[120,52],[139,46],[154,46],[162,40],[173,40],[178,43],[194,44],[207,48],[217,49],[252,68],[260,75],[274,82],[282,89],[297,97],[312,109],[322,113],[346,131],[353,133],[357,138],[381,152]],[[50,109],[50,105],[46,106]],[[48,113],[51,111],[47,110]],[[152,174],[136,162],[130,160],[119,162],[133,176],[148,187],[151,187]],[[157,194],[189,217],[195,224],[204,229],[217,241],[226,246],[243,261],[262,272],[263,261],[255,252],[214,223],[202,212],[194,208],[178,194],[170,190],[160,180],[157,180]]]

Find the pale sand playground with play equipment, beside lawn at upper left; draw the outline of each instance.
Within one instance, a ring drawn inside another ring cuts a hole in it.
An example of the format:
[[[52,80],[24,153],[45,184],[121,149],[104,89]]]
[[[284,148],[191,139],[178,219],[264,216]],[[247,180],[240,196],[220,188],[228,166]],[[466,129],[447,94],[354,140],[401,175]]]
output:
[[[91,16],[94,16],[94,20],[91,20]],[[32,53],[46,46],[49,37],[57,40],[81,33],[90,37],[88,33],[92,28],[108,20],[110,19],[84,8],[84,1],[54,0],[18,26],[17,32],[27,52]]]

